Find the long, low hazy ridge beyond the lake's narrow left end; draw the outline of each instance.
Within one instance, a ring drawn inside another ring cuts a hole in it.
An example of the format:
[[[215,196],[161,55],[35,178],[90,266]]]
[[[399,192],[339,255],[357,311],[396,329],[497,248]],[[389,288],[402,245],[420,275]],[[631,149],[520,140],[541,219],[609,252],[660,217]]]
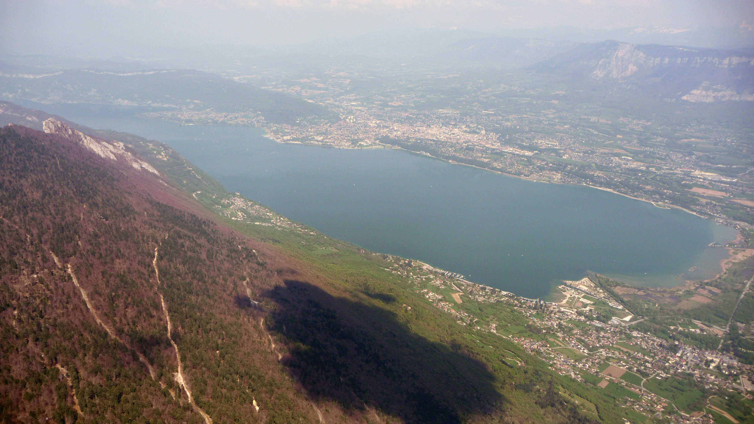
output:
[[[274,123],[328,118],[320,105],[242,84],[208,72],[185,69],[45,69],[0,63],[0,95],[39,103],[104,103],[259,113]]]

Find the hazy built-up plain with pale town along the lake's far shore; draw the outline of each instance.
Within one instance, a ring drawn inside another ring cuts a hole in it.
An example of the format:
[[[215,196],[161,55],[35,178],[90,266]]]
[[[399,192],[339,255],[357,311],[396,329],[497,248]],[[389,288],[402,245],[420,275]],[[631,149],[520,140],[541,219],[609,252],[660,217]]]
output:
[[[750,170],[733,158],[748,150],[741,135],[722,124],[670,124],[658,113],[606,114],[590,104],[570,103],[559,88],[511,75],[482,82],[451,70],[386,66],[374,71],[385,78],[385,87],[375,88],[357,84],[375,75],[348,66],[291,79],[258,71],[227,76],[302,97],[326,107],[333,118],[281,124],[255,110],[214,109],[144,115],[182,124],[265,128],[265,137],[279,143],[406,149],[529,180],[608,189],[751,229],[740,216],[754,207]]]

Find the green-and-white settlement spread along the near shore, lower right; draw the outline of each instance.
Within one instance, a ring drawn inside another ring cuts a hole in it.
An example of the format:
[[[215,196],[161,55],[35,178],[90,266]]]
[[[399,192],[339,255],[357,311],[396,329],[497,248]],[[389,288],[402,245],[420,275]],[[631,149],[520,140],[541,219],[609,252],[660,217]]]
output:
[[[557,287],[561,299],[548,302],[474,284],[463,275],[426,263],[391,259],[396,264],[388,272],[409,278],[415,291],[453,315],[458,324],[518,343],[556,373],[596,386],[615,397],[621,407],[647,418],[712,423],[723,416],[736,424],[739,421],[721,407],[716,395],[703,398],[703,393],[731,392],[752,398],[754,365],[742,363],[730,352],[648,333],[639,328],[648,317],[633,314],[621,299],[592,281],[595,277],[563,281]],[[512,307],[527,323],[520,328],[511,325],[510,319],[482,318],[464,311],[464,302]],[[668,330],[725,335],[725,328],[694,322],[693,327],[681,324],[685,328]],[[508,353],[507,363],[523,365],[521,358]]]

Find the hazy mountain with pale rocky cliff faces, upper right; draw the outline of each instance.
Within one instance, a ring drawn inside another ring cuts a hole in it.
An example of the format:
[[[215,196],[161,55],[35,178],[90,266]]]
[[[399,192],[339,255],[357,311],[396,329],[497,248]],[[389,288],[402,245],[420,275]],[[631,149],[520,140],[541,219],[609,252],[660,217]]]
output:
[[[630,84],[689,102],[754,100],[754,54],[709,48],[603,41],[532,66],[568,78]]]

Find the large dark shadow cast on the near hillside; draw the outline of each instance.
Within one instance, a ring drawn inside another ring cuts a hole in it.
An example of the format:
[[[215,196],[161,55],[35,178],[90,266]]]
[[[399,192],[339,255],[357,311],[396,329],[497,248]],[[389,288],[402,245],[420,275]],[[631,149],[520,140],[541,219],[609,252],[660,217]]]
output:
[[[374,407],[405,422],[461,422],[504,402],[485,364],[412,333],[394,312],[302,281],[268,292],[284,364],[309,395],[345,410]]]

